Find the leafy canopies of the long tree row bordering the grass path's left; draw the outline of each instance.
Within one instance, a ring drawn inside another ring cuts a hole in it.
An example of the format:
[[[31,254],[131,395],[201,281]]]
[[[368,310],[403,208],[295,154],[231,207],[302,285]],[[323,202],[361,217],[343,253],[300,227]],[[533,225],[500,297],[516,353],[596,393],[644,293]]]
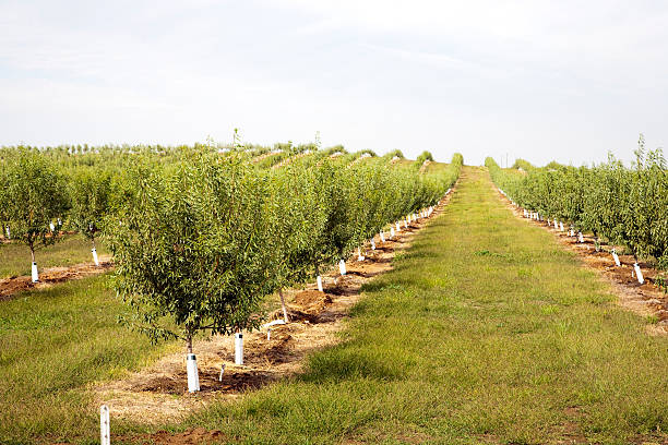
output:
[[[138,166],[105,237],[119,294],[154,339],[257,327],[262,298],[315,276],[438,202],[462,165],[416,175],[375,158],[258,169],[241,153]],[[176,322],[178,329],[174,329]]]

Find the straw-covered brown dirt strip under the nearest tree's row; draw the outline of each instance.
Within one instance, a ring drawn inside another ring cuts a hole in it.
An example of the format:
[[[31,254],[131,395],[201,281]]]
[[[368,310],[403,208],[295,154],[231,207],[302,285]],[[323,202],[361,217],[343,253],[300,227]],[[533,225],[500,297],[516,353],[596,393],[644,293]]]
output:
[[[196,340],[193,349],[198,358],[200,393],[188,393],[186,354],[177,352],[126,378],[91,385],[95,399],[92,409],[105,404],[109,406],[111,418],[160,424],[178,421],[212,401],[231,401],[246,392],[297,375],[309,353],[339,341],[336,333],[345,327],[345,317],[360,299],[361,286],[392,269],[395,253],[407,249],[415,233],[443,212],[453,192],[434,207],[430,218],[414,221],[407,229],[402,227],[394,240],[389,240],[387,233],[386,241],[381,242],[377,236],[375,251],[370,245],[362,251],[365,261],[357,261],[355,254],[346,262],[346,276],[338,275],[338,267],[323,275],[324,292],[314,284],[284,291],[290,323],[272,326],[270,339],[266,329],[244,334],[243,365],[234,364],[234,338],[214,336]],[[278,309],[270,320],[282,316]],[[219,380],[223,364],[225,372]],[[219,431],[195,429],[181,434],[159,431],[141,436],[116,436],[112,442],[183,445],[224,438]]]

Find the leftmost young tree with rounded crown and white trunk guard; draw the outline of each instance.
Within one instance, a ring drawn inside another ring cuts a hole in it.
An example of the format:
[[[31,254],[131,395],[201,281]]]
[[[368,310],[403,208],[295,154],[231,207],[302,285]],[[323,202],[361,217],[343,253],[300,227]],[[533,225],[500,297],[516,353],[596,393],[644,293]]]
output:
[[[67,208],[64,183],[43,155],[27,149],[9,160],[3,177],[1,219],[11,227],[12,239],[31,250],[33,281],[37,281],[35,251],[60,239],[49,225]]]

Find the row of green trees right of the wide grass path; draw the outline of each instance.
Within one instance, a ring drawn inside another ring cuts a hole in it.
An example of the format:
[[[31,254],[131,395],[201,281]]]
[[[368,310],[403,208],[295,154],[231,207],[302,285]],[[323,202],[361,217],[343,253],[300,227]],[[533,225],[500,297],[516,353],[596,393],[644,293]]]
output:
[[[503,170],[491,158],[486,166],[494,183],[521,206],[624,245],[636,260],[654,257],[668,267],[667,165],[660,149],[645,149],[642,135],[631,168],[611,155],[593,167],[551,163],[526,173]]]

